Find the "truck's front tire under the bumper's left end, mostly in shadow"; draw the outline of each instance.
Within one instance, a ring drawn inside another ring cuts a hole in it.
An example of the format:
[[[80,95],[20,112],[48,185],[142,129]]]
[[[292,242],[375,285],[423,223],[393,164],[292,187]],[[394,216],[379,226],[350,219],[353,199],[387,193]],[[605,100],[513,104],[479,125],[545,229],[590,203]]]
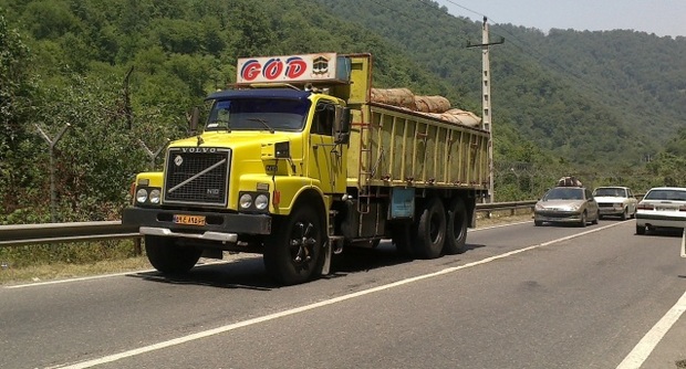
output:
[[[174,238],[146,235],[145,253],[157,271],[165,274],[184,274],[200,260],[202,250],[179,246]]]

